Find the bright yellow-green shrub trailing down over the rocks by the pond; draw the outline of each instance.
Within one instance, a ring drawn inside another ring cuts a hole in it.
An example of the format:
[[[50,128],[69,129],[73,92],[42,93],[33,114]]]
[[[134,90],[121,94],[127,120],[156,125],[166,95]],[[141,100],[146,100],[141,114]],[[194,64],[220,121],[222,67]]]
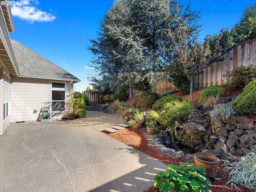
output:
[[[186,121],[190,119],[191,112],[194,110],[190,102],[173,101],[164,104],[162,111],[159,113],[160,125],[165,127],[166,130],[172,135],[172,142],[174,137],[178,138],[176,127],[178,121]]]

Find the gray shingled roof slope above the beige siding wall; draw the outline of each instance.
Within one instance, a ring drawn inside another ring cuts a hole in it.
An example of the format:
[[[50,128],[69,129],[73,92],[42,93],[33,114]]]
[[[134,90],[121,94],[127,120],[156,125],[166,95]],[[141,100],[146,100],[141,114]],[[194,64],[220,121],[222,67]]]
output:
[[[21,77],[80,82],[78,78],[30,50],[16,40],[11,40]]]

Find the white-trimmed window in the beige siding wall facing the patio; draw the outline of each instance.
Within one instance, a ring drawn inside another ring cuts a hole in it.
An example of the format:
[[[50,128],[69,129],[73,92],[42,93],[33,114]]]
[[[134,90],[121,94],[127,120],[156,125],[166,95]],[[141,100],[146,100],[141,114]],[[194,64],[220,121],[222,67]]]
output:
[[[51,95],[52,112],[65,111],[66,83],[52,82]]]

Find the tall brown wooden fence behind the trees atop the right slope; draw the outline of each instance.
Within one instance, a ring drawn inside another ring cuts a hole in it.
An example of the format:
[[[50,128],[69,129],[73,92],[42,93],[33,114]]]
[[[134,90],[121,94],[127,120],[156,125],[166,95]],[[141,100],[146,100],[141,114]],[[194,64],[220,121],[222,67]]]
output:
[[[222,62],[213,63],[204,69],[204,72],[195,78],[195,88],[226,84],[227,80],[223,76],[225,70],[249,64],[256,65],[256,39],[237,45],[224,55]],[[170,82],[162,81],[156,84],[156,92],[170,89],[176,90]]]

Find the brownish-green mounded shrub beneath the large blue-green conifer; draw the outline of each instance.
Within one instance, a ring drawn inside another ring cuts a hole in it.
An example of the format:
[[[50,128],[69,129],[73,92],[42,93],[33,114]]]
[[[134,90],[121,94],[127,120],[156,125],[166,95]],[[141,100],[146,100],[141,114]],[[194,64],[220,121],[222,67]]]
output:
[[[151,93],[151,92],[140,92],[134,96],[134,101],[131,104],[133,107],[137,108],[147,108],[151,107],[157,100],[158,100],[158,94]]]

